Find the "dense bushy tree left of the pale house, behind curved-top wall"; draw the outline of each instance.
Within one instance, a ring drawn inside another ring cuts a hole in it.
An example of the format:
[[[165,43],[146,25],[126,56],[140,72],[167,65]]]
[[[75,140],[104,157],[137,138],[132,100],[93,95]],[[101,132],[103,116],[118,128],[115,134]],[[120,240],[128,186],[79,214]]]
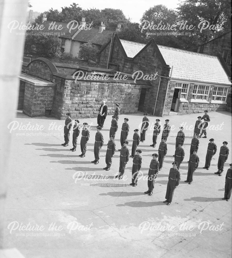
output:
[[[61,42],[54,35],[27,35],[24,52],[39,54],[42,57],[59,57]]]

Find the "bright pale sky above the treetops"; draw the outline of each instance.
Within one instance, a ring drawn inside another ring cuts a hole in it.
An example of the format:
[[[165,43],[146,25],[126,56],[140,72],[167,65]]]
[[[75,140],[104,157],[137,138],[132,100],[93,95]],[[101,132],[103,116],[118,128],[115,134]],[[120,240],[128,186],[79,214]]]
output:
[[[29,0],[30,4],[33,6],[31,9],[34,12],[44,12],[49,9],[58,9],[61,11],[61,7],[70,6],[75,0]],[[105,8],[113,8],[113,9],[121,9],[126,16],[126,18],[130,18],[131,22],[140,23],[140,19],[145,11],[147,11],[150,7],[154,5],[163,4],[168,9],[175,9],[178,7],[178,3],[181,2],[179,0],[116,0],[116,1],[106,1],[106,0],[88,0],[88,1],[77,1],[77,3],[82,9],[105,9]]]

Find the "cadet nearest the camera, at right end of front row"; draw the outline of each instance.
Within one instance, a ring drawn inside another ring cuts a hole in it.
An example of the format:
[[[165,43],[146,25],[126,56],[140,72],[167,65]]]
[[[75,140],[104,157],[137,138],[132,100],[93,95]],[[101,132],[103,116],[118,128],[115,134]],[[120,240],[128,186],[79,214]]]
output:
[[[179,186],[179,183],[180,183],[180,172],[177,166],[178,166],[178,162],[174,161],[172,163],[172,168],[170,168],[170,171],[169,171],[167,191],[165,196],[166,201],[163,201],[163,203],[167,203],[167,205],[171,204],[175,188]]]

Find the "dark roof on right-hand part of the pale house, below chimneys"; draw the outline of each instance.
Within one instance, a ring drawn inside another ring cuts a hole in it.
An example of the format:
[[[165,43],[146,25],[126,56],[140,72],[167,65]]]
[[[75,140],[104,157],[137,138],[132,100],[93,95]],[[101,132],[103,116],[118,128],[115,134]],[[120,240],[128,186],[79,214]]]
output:
[[[81,30],[74,38],[75,41],[90,42],[92,44],[103,45],[109,41],[111,36],[115,33],[113,30],[103,30],[101,33],[99,29]]]

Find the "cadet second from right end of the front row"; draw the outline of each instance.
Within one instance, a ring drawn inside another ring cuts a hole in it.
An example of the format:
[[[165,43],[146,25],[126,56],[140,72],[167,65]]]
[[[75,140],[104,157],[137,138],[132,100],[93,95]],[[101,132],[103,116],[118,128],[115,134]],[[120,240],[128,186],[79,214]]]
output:
[[[155,180],[159,172],[159,162],[157,158],[158,158],[158,154],[156,153],[152,154],[152,160],[150,163],[150,167],[148,171],[148,179],[147,179],[148,191],[144,192],[144,193],[148,193],[149,195],[153,194]]]

